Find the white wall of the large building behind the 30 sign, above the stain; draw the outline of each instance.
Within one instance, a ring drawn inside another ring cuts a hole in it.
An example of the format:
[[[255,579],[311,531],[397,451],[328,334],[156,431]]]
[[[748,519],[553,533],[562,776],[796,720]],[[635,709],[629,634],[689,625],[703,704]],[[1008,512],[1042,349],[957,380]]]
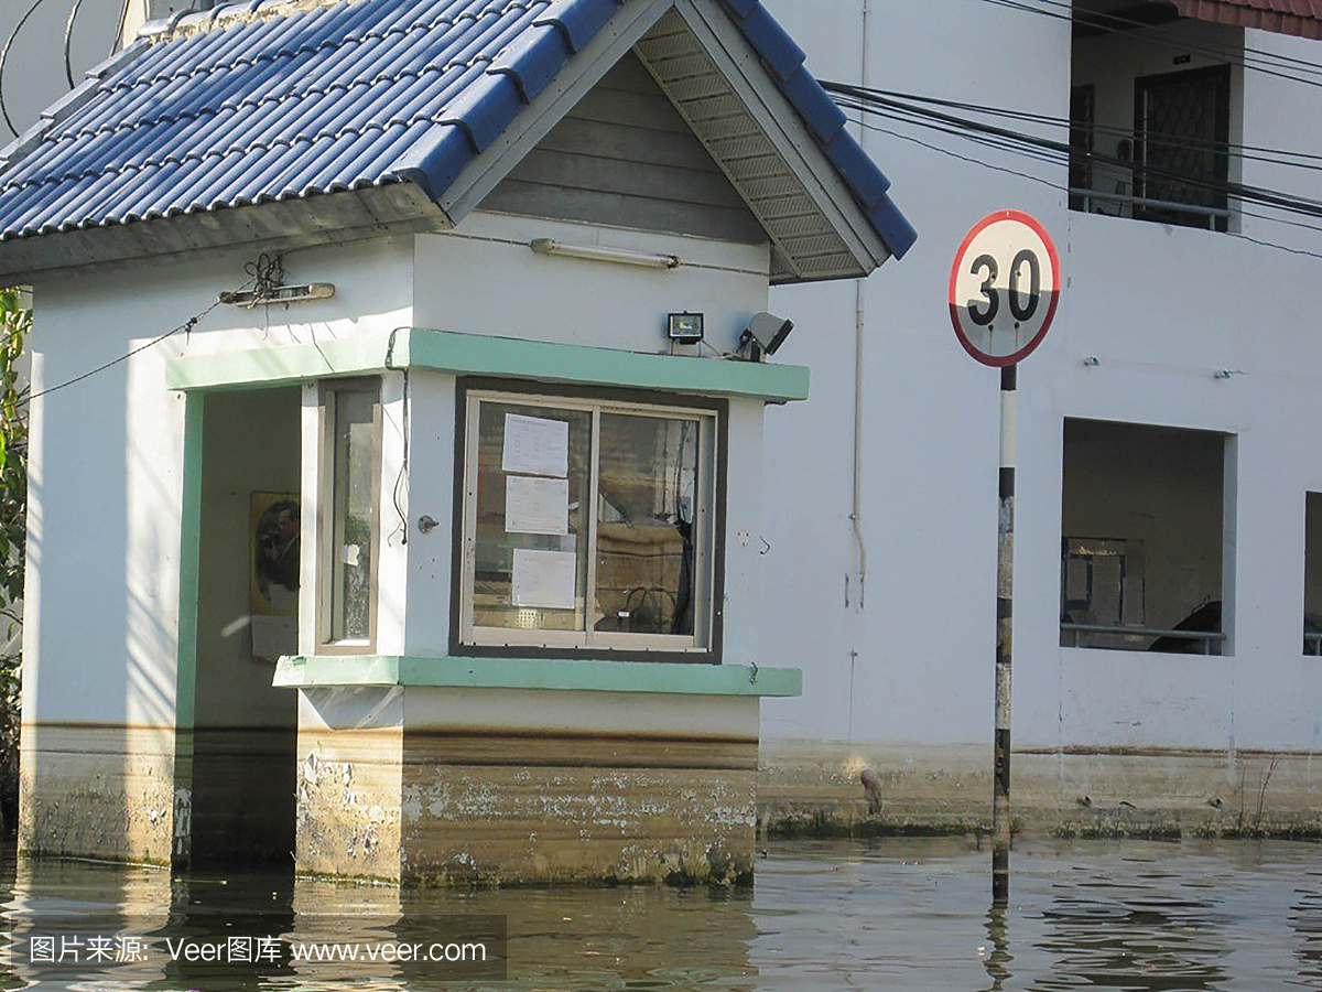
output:
[[[769,7],[820,78],[859,81],[861,0]],[[867,85],[1068,116],[1067,21],[982,0],[871,8]],[[1247,32],[1245,44],[1322,62],[1317,42]],[[1243,93],[1247,144],[1322,152],[1311,86],[1249,71]],[[1303,493],[1322,487],[1322,339],[1307,288],[1319,261],[1227,234],[1071,213],[1064,164],[874,122],[1058,188],[890,135],[865,139],[919,242],[863,292],[862,607],[849,520],[854,286],[773,291],[773,310],[797,324],[777,360],[812,365],[813,395],[767,418],[767,561],[780,607],[764,612],[763,659],[802,667],[804,697],[764,704],[764,747],[767,738],[843,742],[822,751],[837,755],[880,743],[900,754],[976,745],[974,761],[990,767],[998,374],[958,347],[947,279],[968,229],[1018,208],[1055,239],[1064,291],[1054,329],[1019,373],[1015,746],[1315,750],[1322,664],[1301,657],[1300,632]],[[1063,128],[1052,136],[1064,140]],[[1303,196],[1307,176],[1243,165],[1244,183]],[[1241,230],[1322,250],[1317,234],[1281,224],[1245,217]],[[1083,364],[1089,356],[1096,368]],[[1236,374],[1214,378],[1222,369]],[[1058,647],[1064,417],[1236,435],[1224,587],[1235,602],[1233,656]]]

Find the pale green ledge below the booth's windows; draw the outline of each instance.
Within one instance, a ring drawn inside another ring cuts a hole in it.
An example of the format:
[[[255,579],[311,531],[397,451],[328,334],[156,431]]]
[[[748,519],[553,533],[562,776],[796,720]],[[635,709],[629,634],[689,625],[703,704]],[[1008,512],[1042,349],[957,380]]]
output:
[[[272,685],[287,689],[419,685],[785,697],[802,693],[804,676],[797,668],[670,661],[313,655],[282,657]]]

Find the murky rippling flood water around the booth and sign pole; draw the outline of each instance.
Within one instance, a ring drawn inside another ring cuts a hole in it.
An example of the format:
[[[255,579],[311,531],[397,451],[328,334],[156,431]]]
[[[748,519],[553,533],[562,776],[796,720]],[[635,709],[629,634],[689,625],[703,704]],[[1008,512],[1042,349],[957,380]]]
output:
[[[989,869],[972,840],[805,841],[772,844],[751,890],[401,893],[11,857],[0,988],[1322,988],[1322,845],[1026,843],[1005,913],[988,909]],[[508,981],[446,981],[447,966],[418,962],[169,952],[181,939],[237,934],[415,940],[456,914],[506,918]],[[82,951],[81,962],[29,960],[38,935]],[[90,964],[94,935],[140,938],[140,959]]]

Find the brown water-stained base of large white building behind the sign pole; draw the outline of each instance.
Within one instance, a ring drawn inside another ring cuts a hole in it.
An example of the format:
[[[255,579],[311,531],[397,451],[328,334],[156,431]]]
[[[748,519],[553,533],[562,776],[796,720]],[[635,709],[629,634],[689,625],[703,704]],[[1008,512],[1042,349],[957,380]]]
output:
[[[880,782],[869,811],[863,768]],[[1322,836],[1322,755],[1015,750],[1014,828],[1055,836]],[[765,836],[990,829],[992,747],[763,741]]]

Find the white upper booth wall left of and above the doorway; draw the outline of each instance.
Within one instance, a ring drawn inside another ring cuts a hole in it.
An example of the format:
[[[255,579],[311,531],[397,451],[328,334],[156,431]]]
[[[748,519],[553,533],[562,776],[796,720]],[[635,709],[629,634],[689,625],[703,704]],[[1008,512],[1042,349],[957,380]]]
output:
[[[238,288],[250,261],[221,255],[38,284],[34,392],[181,324]],[[266,312],[218,307],[192,335],[33,403],[25,722],[173,725],[184,398],[165,388],[167,360],[408,323],[407,241],[287,253],[286,267],[292,279],[334,283],[336,296]],[[107,645],[118,645],[114,657]]]

